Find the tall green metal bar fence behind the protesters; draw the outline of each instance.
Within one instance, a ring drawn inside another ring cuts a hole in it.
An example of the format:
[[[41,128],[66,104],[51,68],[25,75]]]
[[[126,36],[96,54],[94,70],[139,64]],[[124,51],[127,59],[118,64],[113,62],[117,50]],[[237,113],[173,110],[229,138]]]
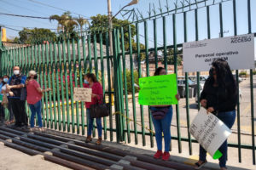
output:
[[[236,0],[228,1],[232,6],[232,20],[234,20],[234,36],[237,35],[236,23]],[[213,5],[212,5],[213,6]],[[211,8],[204,7],[207,17],[206,27],[207,37],[211,38]],[[220,37],[224,37],[224,16],[223,3],[215,3],[218,7]],[[183,8],[189,8],[185,6]],[[247,0],[247,33],[252,33],[251,1]],[[149,113],[148,106],[139,105],[137,101],[137,88],[134,83],[142,77],[142,70],[145,68],[146,76],[150,73],[149,52],[154,52],[154,68],[163,65],[168,68],[167,51],[172,49],[174,56],[173,72],[177,73],[177,51],[182,48],[182,42],[177,43],[177,31],[183,31],[183,42],[188,41],[188,17],[193,16],[195,21],[193,36],[194,41],[200,38],[199,31],[199,8],[189,9],[189,11],[174,11],[167,16],[152,17],[148,20],[140,20],[135,25],[124,26],[113,29],[113,55],[109,54],[108,32],[90,32],[86,37],[77,39],[67,39],[59,42],[45,42],[34,45],[23,45],[22,47],[7,48],[2,46],[1,51],[1,75],[11,75],[14,65],[20,65],[21,71],[27,74],[30,70],[35,70],[39,75],[39,82],[43,88],[52,88],[52,91],[45,93],[42,99],[44,127],[58,129],[64,132],[78,133],[84,135],[87,120],[83,102],[73,101],[73,87],[82,87],[83,74],[87,71],[95,72],[97,79],[102,83],[103,93],[106,102],[113,103],[110,108],[111,115],[103,120],[104,139],[110,141],[127,141],[135,144],[142,142],[143,145],[154,146],[154,127]],[[177,17],[182,18],[177,21]],[[189,18],[191,20],[191,17]],[[167,31],[167,22],[170,30]],[[160,24],[158,24],[160,23]],[[177,23],[178,26],[177,27]],[[148,26],[153,33],[153,47],[150,47],[150,36],[148,36]],[[162,30],[157,30],[161,25]],[[135,30],[135,39],[132,31]],[[142,32],[142,34],[140,33]],[[161,32],[161,35],[159,34]],[[167,34],[172,35],[168,36]],[[143,38],[142,38],[143,37]],[[159,37],[162,37],[161,40]],[[162,44],[159,45],[159,42]],[[141,43],[144,47],[141,48]],[[133,50],[136,46],[136,51]],[[158,53],[162,53],[163,61],[160,63]],[[142,62],[142,57],[145,58]],[[136,61],[136,62],[135,62]],[[128,62],[128,63],[127,63]],[[128,67],[127,67],[128,64]],[[136,65],[136,68],[135,68]],[[128,68],[128,69],[127,69]],[[192,155],[192,143],[196,143],[189,134],[189,73],[185,74],[185,112],[180,112],[179,105],[175,105],[177,135],[172,135],[172,139],[177,140],[178,151],[182,152],[182,141],[189,144],[189,154]],[[130,76],[131,75],[131,76]],[[197,89],[200,89],[200,72],[196,73]],[[238,79],[238,71],[236,71]],[[237,105],[237,142],[229,144],[238,150],[239,161],[241,162],[241,149],[252,150],[253,164],[255,164],[255,133],[254,133],[254,105],[253,105],[253,71],[250,71],[250,96],[251,96],[251,117],[250,122],[252,132],[251,144],[241,143],[240,125],[240,102]],[[113,85],[111,86],[113,82]],[[239,83],[237,83],[239,85]],[[113,87],[113,88],[112,88]],[[200,96],[200,90],[197,90]],[[200,105],[198,105],[200,106]],[[26,108],[28,114],[30,112]],[[181,130],[180,116],[186,115],[185,131]],[[173,133],[173,132],[172,132]],[[95,135],[95,133],[94,133]],[[114,139],[115,138],[115,139]],[[147,139],[150,139],[149,141]]]

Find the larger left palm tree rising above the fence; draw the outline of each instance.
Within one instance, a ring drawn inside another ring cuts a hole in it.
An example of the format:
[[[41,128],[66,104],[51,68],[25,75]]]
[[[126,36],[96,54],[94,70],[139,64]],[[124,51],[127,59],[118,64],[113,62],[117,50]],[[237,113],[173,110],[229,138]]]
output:
[[[54,14],[49,17],[49,20],[58,21],[58,27],[57,27],[58,31],[61,30],[63,33],[64,32],[71,33],[73,32],[75,26],[78,26],[78,23],[75,20],[73,20],[70,14],[71,13],[69,11],[61,14],[61,16]]]

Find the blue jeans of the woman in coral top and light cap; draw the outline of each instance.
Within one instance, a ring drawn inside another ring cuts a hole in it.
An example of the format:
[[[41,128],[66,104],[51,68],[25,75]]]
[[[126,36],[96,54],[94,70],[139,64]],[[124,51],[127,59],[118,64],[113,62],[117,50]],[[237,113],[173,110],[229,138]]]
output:
[[[34,105],[29,104],[29,108],[31,111],[30,127],[34,127],[34,118],[35,118],[36,113],[38,116],[38,127],[43,127],[42,116],[41,116],[41,109],[42,109],[41,100],[39,100],[38,103],[36,103]]]

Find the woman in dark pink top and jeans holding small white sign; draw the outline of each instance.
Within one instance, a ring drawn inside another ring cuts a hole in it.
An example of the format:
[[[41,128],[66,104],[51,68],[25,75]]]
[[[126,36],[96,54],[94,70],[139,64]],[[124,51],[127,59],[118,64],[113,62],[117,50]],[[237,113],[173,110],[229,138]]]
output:
[[[86,117],[89,122],[87,127],[87,138],[85,140],[86,143],[92,141],[91,133],[93,129],[94,118],[90,117],[90,105],[96,105],[96,103],[101,103],[103,98],[102,85],[100,82],[97,82],[96,77],[92,73],[87,73],[84,75],[84,88],[91,88],[91,102],[85,102],[86,107]],[[102,144],[102,118],[96,118],[96,125],[98,129],[98,139],[96,144]]]

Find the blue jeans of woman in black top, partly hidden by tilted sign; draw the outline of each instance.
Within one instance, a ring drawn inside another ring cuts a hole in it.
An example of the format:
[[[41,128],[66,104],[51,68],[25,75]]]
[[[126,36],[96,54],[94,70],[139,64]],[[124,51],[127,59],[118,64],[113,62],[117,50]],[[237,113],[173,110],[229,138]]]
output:
[[[219,112],[218,119],[225,123],[225,125],[231,128],[236,120],[236,111],[226,111],[226,112]],[[226,167],[226,161],[228,158],[228,143],[227,140],[218,148],[218,150],[223,154],[218,161],[219,167]],[[200,145],[200,154],[199,154],[201,161],[206,161],[207,159],[207,150],[205,150]]]

